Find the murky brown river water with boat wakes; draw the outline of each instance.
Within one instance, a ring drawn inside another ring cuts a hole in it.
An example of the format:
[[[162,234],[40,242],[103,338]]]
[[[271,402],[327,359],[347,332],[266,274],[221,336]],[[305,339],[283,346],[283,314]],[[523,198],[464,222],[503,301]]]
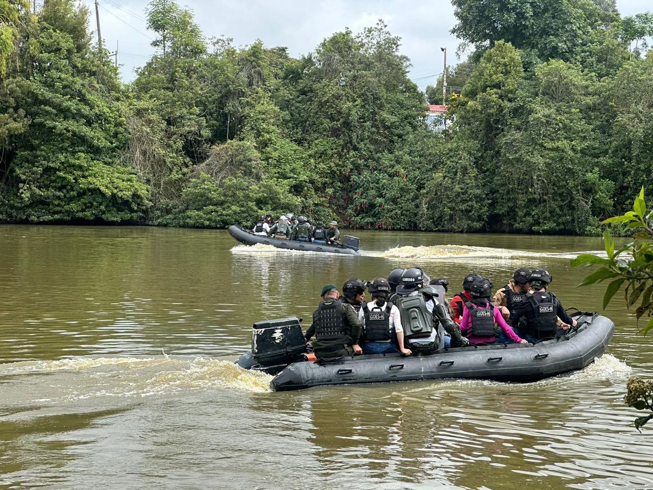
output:
[[[362,257],[215,230],[0,226],[0,488],[653,489],[653,427],[623,403],[628,376],[652,376],[653,335],[569,267],[601,239],[356,234]],[[590,367],[533,384],[274,393],[233,364],[254,321],[310,321],[324,284],[411,265],[454,289],[544,267],[565,307],[616,333]]]

